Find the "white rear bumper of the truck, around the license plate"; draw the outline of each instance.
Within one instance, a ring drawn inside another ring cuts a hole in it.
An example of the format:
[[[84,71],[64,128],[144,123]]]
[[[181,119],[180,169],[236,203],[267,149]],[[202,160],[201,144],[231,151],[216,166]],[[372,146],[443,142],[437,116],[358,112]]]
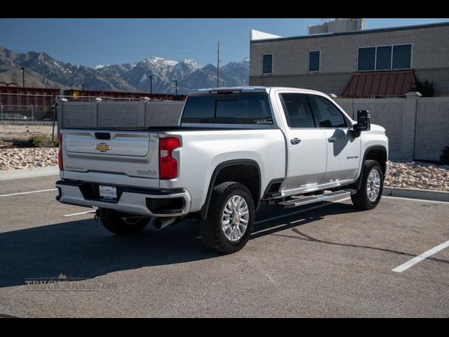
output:
[[[98,185],[100,184],[59,180],[56,182],[59,193],[56,199],[62,204],[94,206],[153,217],[184,216],[190,211],[191,197],[186,190],[116,186],[118,199],[111,201],[98,197],[95,192],[98,191]]]

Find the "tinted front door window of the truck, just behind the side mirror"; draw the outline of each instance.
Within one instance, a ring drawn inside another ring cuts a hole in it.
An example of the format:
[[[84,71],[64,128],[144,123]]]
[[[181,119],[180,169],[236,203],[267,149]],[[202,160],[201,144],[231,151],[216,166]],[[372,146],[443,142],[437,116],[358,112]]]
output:
[[[346,128],[347,123],[342,112],[327,98],[309,95],[314,107],[315,117],[320,128]]]

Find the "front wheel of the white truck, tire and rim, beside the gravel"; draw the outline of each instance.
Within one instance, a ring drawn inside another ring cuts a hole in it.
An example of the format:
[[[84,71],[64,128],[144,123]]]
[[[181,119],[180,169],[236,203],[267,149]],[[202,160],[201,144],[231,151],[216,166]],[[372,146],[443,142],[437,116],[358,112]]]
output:
[[[382,197],[384,174],[379,162],[366,160],[363,163],[363,175],[356,194],[351,195],[352,204],[358,209],[374,209]]]

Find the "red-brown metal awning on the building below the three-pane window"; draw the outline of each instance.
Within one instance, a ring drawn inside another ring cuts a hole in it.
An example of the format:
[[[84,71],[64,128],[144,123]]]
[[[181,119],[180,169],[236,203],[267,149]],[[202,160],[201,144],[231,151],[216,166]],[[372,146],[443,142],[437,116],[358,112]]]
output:
[[[354,72],[343,97],[403,96],[415,88],[415,72]]]

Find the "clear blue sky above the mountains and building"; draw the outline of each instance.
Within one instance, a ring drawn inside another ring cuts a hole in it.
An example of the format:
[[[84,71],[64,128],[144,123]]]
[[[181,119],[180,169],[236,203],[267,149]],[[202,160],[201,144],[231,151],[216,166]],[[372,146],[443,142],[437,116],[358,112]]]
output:
[[[366,29],[420,25],[445,19],[367,19]],[[57,60],[95,67],[150,56],[225,65],[249,56],[250,29],[282,37],[306,35],[319,19],[0,19],[0,45],[45,51]]]

